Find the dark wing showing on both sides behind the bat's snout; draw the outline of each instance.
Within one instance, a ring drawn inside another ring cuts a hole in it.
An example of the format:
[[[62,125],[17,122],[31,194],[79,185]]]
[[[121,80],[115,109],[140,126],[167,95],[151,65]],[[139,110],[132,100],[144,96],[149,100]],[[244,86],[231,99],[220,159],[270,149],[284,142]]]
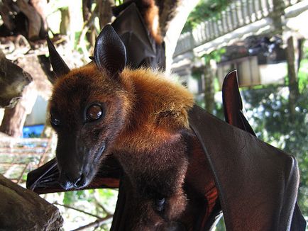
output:
[[[104,164],[101,164],[97,176],[94,177],[89,186],[82,189],[119,188],[119,178],[122,171],[119,162],[111,155],[107,157]],[[58,177],[59,171],[57,169],[57,161],[56,159],[51,159],[43,166],[28,173],[26,186],[36,193],[65,191],[60,184],[58,184]]]

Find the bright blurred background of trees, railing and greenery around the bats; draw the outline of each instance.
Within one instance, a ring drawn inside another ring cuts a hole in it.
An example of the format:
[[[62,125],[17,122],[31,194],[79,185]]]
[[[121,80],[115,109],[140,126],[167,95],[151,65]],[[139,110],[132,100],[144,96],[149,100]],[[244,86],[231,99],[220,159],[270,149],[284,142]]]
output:
[[[21,88],[18,101],[0,109],[0,174],[24,186],[28,171],[55,157],[57,137],[47,113],[52,85],[45,34],[69,67],[82,66],[90,61],[101,28],[114,19],[111,7],[119,4],[123,1],[0,1],[0,77],[28,72],[33,79],[24,88],[11,86],[10,92]],[[246,118],[258,138],[297,157],[298,203],[307,220],[308,1],[158,0],[156,4],[170,78],[187,86],[200,106],[224,120],[222,81],[229,71],[238,70]],[[8,62],[23,72],[8,69]],[[117,191],[42,197],[60,209],[64,230],[109,230]],[[224,230],[224,225],[216,229]]]

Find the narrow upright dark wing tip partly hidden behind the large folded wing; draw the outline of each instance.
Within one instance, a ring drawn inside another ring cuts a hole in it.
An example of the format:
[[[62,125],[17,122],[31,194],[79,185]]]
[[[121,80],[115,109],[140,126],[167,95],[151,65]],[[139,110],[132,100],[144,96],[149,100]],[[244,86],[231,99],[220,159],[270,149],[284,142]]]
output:
[[[251,125],[249,125],[248,120],[243,116],[243,104],[241,100],[241,95],[238,91],[238,77],[236,71],[229,72],[224,79],[224,84],[222,87],[222,98],[224,103],[224,115],[226,122],[246,130],[251,135],[255,136]],[[305,230],[306,221],[299,209],[299,206],[295,205],[295,210],[292,218],[291,230]]]

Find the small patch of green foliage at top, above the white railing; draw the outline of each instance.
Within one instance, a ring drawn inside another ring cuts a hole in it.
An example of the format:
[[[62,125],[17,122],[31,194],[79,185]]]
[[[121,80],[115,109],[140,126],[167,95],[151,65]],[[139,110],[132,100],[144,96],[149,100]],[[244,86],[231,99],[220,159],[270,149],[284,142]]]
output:
[[[219,12],[228,6],[227,0],[200,0],[196,8],[189,14],[183,31],[192,30],[199,23],[207,18],[214,18],[219,15]]]

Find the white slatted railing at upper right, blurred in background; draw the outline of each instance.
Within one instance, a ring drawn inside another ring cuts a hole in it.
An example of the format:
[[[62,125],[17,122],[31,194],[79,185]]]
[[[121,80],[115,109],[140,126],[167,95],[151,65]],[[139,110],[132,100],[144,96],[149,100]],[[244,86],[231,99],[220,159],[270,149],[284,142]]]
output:
[[[174,57],[192,50],[194,47],[231,33],[233,30],[248,26],[263,18],[281,16],[284,10],[303,0],[237,0],[216,18],[200,23],[192,32],[184,33],[177,41]]]

